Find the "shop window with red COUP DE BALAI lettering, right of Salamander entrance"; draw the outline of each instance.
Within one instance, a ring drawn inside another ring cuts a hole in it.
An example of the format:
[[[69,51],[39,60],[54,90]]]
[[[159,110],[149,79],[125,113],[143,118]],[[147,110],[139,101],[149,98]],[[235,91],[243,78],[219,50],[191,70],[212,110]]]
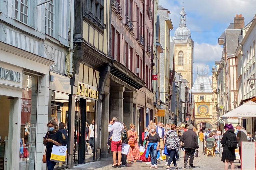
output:
[[[21,125],[19,141],[19,170],[35,168],[36,116],[37,116],[37,76],[23,75]]]

